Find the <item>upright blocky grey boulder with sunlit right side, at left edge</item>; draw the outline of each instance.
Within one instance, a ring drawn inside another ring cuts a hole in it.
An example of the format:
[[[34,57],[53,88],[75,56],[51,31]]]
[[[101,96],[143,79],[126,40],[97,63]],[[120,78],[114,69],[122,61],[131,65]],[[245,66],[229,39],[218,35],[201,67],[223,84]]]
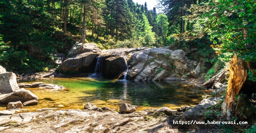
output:
[[[13,72],[0,74],[0,93],[1,94],[8,94],[19,89],[20,88],[16,81],[16,75]]]

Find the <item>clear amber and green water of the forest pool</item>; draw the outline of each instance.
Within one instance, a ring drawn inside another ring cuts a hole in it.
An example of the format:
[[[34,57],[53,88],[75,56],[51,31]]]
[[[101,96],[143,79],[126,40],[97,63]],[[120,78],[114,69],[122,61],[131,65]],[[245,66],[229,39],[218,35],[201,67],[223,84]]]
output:
[[[204,88],[184,85],[181,82],[134,83],[127,80],[92,78],[54,78],[23,82],[36,81],[65,86],[66,90],[26,88],[39,97],[39,104],[23,109],[35,111],[59,104],[64,105],[65,109],[83,109],[87,102],[116,110],[121,103],[136,105],[137,110],[161,107],[177,109],[185,105],[199,104],[202,95],[206,93]],[[6,104],[1,104],[0,110],[4,110],[5,107]]]

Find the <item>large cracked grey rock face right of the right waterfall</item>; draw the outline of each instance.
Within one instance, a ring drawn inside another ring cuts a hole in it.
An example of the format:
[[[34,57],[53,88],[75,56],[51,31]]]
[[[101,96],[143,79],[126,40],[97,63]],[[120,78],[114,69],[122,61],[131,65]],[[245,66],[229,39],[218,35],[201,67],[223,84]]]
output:
[[[130,53],[128,79],[145,80],[179,80],[182,75],[193,68],[193,61],[188,60],[186,52],[169,50],[168,47],[150,48]],[[197,76],[197,74],[195,74]]]

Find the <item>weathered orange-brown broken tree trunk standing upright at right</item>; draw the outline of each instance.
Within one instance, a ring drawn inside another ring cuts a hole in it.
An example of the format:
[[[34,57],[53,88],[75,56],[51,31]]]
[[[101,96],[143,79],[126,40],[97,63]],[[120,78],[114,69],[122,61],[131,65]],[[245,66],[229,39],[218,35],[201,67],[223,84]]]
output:
[[[222,103],[222,114],[228,115],[227,120],[230,120],[230,115],[235,113],[236,95],[245,83],[248,76],[248,70],[243,59],[238,58],[235,54],[229,61],[229,81],[226,97]]]

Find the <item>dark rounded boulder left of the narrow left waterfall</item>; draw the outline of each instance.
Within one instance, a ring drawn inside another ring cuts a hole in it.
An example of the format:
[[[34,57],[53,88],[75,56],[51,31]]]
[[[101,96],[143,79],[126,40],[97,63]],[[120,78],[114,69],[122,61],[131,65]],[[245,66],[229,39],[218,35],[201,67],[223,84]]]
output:
[[[61,71],[94,72],[97,56],[99,56],[99,54],[93,52],[78,54],[77,56],[66,59],[59,65],[58,69]]]

